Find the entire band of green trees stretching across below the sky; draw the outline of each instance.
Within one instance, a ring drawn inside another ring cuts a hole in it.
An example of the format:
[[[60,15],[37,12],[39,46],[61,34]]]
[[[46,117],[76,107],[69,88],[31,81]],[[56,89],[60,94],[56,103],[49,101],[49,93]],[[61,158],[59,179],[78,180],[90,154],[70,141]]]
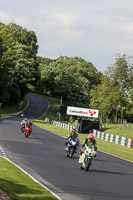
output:
[[[98,109],[106,121],[116,112],[133,113],[132,57],[119,54],[105,74],[79,57],[37,56],[33,31],[0,23],[0,102],[19,103],[29,88],[59,99],[63,105]]]

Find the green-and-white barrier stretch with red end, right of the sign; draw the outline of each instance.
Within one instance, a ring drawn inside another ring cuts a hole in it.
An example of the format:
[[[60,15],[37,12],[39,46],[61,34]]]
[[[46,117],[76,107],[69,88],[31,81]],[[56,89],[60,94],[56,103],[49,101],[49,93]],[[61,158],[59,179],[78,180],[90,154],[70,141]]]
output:
[[[100,131],[97,131],[94,129],[93,129],[93,134],[95,137],[97,137],[101,140],[105,140],[108,142],[115,142],[116,144],[120,144],[127,148],[132,148],[132,139],[130,139],[130,138],[125,138],[125,137],[122,137],[119,135],[113,135],[113,134],[109,134],[109,133],[100,132]]]

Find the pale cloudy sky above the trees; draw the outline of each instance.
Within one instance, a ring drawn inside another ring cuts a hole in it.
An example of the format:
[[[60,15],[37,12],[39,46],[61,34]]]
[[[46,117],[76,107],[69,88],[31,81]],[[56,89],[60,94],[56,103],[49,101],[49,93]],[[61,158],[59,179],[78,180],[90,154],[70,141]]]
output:
[[[102,73],[133,55],[133,0],[0,0],[0,22],[34,31],[38,56],[81,57]]]

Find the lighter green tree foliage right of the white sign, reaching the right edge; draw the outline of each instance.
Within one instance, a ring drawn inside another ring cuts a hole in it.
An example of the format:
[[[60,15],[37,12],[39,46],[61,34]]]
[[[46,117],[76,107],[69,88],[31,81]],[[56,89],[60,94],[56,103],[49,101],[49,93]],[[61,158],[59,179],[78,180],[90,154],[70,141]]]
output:
[[[114,65],[107,69],[106,75],[102,76],[101,84],[93,87],[91,106],[100,110],[100,116],[104,121],[107,118],[115,117],[117,111],[121,117],[123,110],[124,113],[131,111],[132,92],[132,60],[126,55],[118,55]]]

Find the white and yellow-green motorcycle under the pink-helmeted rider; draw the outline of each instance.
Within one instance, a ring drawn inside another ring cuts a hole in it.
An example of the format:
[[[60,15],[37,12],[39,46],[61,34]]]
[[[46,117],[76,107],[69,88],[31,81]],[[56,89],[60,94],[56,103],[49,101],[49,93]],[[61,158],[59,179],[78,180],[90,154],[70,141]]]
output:
[[[92,160],[96,156],[96,151],[94,150],[94,146],[85,145],[84,151],[82,153],[80,167],[85,171],[89,170],[90,165],[92,165]]]

